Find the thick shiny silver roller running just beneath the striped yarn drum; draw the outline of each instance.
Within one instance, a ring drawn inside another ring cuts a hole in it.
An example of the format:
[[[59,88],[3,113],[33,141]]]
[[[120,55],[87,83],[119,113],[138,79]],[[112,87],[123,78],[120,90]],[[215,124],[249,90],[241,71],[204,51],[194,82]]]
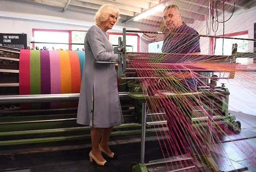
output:
[[[78,101],[79,95],[79,93],[45,95],[3,95],[0,96],[0,104]],[[119,97],[126,98],[129,96],[127,95],[127,93],[119,93]]]

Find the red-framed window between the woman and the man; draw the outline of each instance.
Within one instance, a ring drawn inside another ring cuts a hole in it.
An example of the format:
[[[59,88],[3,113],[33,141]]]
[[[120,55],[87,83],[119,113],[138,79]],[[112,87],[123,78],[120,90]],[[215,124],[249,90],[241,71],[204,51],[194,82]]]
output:
[[[123,40],[123,34],[108,33],[108,40],[112,45],[118,45],[118,38],[121,37]],[[126,35],[126,51],[127,52],[138,52],[139,50],[139,35],[138,34],[127,34]]]

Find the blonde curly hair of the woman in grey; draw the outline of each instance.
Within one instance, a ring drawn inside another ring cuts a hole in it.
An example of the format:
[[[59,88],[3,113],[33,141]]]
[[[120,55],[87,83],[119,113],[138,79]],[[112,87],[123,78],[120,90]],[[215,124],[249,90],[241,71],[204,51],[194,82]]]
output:
[[[95,24],[100,25],[102,22],[105,22],[108,20],[109,15],[111,14],[117,14],[117,22],[120,18],[120,11],[117,7],[111,5],[111,4],[105,4],[99,8],[99,10],[96,12],[96,15],[94,17]],[[117,23],[116,22],[116,23]]]

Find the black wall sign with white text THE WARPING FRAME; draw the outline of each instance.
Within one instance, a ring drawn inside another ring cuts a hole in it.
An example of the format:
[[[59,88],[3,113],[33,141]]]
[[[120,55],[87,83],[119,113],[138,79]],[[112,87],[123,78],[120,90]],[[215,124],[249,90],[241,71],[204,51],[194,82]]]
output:
[[[27,34],[0,34],[0,46],[27,48]]]

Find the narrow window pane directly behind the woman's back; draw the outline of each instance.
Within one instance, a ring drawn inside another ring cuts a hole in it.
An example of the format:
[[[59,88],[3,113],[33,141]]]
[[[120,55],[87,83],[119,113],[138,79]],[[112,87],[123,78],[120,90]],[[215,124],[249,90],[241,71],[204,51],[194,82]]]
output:
[[[81,43],[84,44],[84,38],[86,35],[86,31],[71,31],[71,43]],[[84,45],[75,45],[72,44],[72,50],[81,50],[84,48]]]

